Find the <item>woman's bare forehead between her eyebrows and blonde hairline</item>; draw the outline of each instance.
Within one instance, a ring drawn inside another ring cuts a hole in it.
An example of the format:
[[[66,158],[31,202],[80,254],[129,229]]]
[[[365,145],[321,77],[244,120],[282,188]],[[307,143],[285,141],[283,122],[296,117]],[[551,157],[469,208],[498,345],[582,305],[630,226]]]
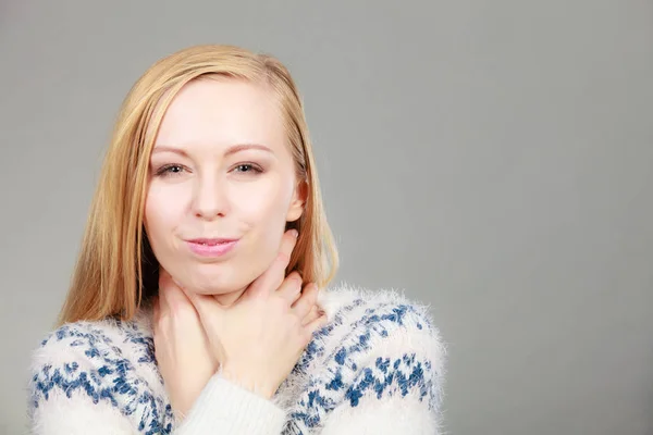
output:
[[[157,144],[263,144],[284,147],[286,133],[274,94],[243,79],[207,77],[185,85],[168,108]]]

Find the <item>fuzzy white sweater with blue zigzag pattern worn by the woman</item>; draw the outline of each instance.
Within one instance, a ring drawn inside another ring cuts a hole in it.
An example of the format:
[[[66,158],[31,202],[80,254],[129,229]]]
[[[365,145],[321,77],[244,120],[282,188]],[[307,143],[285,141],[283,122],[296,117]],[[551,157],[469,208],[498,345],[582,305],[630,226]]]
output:
[[[181,424],[157,369],[150,315],[48,334],[29,380],[33,433],[439,434],[444,347],[429,308],[394,290],[320,293],[328,324],[275,396],[213,375]]]

